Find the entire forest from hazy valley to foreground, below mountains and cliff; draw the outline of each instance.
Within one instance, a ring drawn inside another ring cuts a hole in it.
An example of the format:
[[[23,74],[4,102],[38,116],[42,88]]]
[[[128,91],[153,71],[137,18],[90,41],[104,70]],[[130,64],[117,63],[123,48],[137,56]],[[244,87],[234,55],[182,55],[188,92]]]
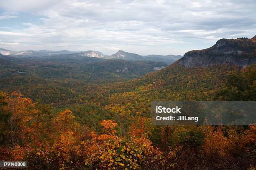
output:
[[[255,124],[151,124],[151,101],[255,101],[255,64],[3,55],[0,64],[0,160],[49,170],[256,167]]]

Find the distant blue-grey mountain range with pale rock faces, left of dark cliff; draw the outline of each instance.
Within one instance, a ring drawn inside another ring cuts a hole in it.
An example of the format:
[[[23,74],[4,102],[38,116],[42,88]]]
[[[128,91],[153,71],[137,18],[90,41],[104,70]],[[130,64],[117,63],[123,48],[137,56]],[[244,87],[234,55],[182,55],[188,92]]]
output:
[[[135,53],[128,53],[122,50],[119,50],[117,53],[112,54],[110,56],[105,55],[99,51],[47,51],[47,50],[39,50],[39,51],[11,51],[0,48],[0,53],[3,55],[13,56],[13,57],[30,57],[34,59],[38,59],[38,57],[43,57],[45,59],[49,58],[61,58],[61,57],[95,57],[95,58],[103,58],[103,59],[122,59],[126,61],[161,61],[167,64],[174,63],[182,56],[178,55],[148,55],[142,56]]]

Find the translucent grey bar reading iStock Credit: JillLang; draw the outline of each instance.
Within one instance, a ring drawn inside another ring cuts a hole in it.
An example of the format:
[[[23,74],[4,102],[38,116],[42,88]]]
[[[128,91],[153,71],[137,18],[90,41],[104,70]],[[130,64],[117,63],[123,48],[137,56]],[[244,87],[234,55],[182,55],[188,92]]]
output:
[[[250,125],[256,123],[256,101],[154,101],[155,125]]]

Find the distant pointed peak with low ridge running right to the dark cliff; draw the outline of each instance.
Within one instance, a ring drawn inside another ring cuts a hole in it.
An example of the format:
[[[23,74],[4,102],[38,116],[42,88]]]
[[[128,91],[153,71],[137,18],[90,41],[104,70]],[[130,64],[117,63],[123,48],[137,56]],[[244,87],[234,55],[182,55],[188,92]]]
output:
[[[135,53],[128,53],[122,50],[119,50],[117,53],[108,56],[108,58],[115,58],[115,59],[123,59],[128,61],[161,61],[167,64],[174,63],[182,56],[174,56],[174,55],[148,55],[148,56],[141,56]]]

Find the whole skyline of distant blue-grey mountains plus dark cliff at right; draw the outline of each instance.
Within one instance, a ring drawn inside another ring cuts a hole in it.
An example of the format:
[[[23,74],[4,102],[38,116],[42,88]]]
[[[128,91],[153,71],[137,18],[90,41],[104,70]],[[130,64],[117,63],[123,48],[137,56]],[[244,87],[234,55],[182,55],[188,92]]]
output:
[[[125,61],[160,61],[171,64],[177,61],[180,66],[187,68],[207,67],[215,64],[230,63],[246,67],[256,63],[256,36],[253,38],[220,39],[215,45],[203,50],[188,51],[184,56],[174,55],[147,55],[142,56],[136,53],[128,53],[119,50],[110,56],[99,51],[10,51],[0,48],[0,54],[15,58],[30,58],[46,61],[67,61],[67,62],[97,62],[109,59],[121,59]],[[89,57],[89,58],[88,58]]]

